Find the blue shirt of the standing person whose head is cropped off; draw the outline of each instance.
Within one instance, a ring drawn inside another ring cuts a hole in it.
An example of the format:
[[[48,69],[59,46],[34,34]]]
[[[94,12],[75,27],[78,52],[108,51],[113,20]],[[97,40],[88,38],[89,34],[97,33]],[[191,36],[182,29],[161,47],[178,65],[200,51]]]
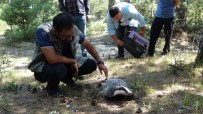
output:
[[[171,18],[174,16],[174,0],[158,0],[155,17]]]

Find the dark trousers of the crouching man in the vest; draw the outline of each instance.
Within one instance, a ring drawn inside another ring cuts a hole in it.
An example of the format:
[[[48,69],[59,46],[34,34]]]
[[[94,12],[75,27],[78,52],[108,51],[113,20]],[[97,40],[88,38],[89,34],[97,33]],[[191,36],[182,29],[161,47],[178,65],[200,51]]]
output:
[[[63,55],[73,58],[70,51],[70,45],[66,45],[63,48]],[[90,74],[97,69],[97,63],[93,59],[87,59],[87,61],[78,68],[78,76]],[[60,81],[69,83],[72,81],[74,70],[70,64],[49,64],[46,62],[42,72],[35,72],[34,77],[39,82],[47,82],[47,87],[50,89],[57,88]]]

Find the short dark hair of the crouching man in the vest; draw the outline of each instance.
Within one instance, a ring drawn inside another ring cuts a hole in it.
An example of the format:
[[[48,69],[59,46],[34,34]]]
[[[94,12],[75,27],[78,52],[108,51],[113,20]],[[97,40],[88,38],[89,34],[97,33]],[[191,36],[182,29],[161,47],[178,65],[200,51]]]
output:
[[[73,27],[73,18],[69,13],[62,12],[53,18],[53,27],[57,32],[62,29],[71,29]]]

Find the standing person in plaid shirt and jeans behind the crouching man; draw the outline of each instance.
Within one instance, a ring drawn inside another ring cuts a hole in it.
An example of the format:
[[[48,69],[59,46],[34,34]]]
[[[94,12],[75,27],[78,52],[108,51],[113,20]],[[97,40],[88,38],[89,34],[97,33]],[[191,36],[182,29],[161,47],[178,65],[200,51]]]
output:
[[[74,24],[79,30],[86,35],[86,23],[89,21],[89,0],[58,0],[59,8],[62,12],[67,12],[73,16]],[[83,46],[81,46],[82,56],[86,57],[87,53]]]

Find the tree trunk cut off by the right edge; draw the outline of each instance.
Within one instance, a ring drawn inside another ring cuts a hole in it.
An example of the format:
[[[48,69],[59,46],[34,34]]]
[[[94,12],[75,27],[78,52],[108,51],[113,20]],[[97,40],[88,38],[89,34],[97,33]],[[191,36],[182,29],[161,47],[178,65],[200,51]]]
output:
[[[199,50],[198,50],[198,53],[197,53],[195,63],[196,64],[203,64],[203,38],[202,38],[202,40],[200,41],[200,44],[199,44]]]

